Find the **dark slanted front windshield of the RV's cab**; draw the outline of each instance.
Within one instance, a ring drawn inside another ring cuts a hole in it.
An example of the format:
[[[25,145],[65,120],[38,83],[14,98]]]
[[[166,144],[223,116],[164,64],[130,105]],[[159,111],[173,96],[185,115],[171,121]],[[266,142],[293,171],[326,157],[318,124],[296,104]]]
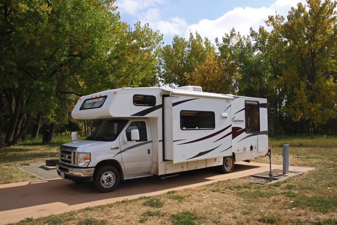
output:
[[[110,119],[94,130],[85,140],[114,141],[125,127],[127,120]]]

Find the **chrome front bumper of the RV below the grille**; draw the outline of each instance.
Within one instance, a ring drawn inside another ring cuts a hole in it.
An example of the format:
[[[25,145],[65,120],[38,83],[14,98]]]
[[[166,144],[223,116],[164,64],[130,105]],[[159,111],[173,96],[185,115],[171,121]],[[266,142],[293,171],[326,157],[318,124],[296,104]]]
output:
[[[57,163],[56,170],[59,175],[63,172],[65,179],[74,181],[90,181],[95,172],[95,168],[74,167],[63,163]]]

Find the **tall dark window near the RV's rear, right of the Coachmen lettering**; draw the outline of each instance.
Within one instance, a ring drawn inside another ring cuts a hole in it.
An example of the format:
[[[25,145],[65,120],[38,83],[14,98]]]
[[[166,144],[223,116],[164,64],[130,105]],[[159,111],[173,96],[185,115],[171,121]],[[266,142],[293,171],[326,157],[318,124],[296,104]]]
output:
[[[259,102],[246,101],[246,133],[260,132],[260,108]]]

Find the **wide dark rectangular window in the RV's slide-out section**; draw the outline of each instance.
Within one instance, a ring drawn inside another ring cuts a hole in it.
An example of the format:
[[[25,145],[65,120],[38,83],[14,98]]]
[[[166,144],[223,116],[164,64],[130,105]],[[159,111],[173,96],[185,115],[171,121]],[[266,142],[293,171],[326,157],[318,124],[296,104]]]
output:
[[[180,128],[182,130],[214,129],[214,112],[181,111]]]

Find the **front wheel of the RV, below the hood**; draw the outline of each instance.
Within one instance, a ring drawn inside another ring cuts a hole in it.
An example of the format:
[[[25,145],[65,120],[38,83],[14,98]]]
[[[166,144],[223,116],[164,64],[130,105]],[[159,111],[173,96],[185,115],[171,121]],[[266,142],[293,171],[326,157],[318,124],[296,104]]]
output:
[[[114,191],[118,185],[121,176],[118,170],[110,165],[99,167],[94,174],[94,185],[102,193]]]

